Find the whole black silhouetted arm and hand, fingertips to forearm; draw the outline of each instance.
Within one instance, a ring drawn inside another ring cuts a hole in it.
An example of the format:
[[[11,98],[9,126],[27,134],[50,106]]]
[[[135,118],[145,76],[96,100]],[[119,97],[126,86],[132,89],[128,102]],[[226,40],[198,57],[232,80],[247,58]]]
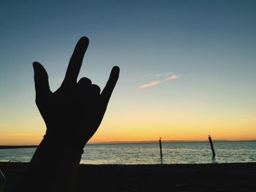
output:
[[[78,41],[64,81],[54,93],[44,67],[34,62],[36,103],[47,131],[28,169],[10,191],[72,191],[83,147],[102,121],[119,74],[114,66],[102,93],[86,77],[77,82],[88,45],[87,37]]]

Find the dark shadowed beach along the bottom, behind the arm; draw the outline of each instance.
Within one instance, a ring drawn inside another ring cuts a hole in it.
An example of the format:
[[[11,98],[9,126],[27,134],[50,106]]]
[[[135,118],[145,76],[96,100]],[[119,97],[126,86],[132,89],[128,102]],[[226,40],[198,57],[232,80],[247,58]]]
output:
[[[27,163],[1,162],[12,183]],[[256,163],[80,164],[75,191],[256,191]]]

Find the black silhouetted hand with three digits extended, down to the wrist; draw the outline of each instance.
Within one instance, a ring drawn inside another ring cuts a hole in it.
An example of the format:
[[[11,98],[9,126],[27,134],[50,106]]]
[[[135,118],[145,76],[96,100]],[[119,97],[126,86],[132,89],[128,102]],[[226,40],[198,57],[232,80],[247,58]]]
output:
[[[81,153],[102,121],[119,74],[118,66],[114,66],[102,93],[86,77],[77,82],[88,45],[87,37],[78,41],[64,81],[54,93],[50,91],[45,68],[38,62],[33,64],[36,103],[47,126],[45,139],[66,142]]]

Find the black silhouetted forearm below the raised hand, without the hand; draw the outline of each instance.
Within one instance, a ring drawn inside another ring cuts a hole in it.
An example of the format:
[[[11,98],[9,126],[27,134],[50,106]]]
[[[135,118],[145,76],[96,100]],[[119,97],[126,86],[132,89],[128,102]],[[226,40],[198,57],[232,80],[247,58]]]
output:
[[[72,191],[80,158],[70,145],[42,139],[29,167],[10,191]]]

